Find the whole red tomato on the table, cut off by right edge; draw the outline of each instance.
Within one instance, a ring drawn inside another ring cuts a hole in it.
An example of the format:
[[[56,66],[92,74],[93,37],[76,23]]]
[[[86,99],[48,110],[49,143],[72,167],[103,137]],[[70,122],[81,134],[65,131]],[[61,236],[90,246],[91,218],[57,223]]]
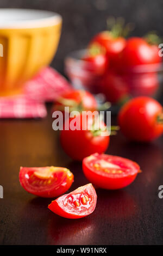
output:
[[[118,122],[127,138],[152,141],[163,132],[162,106],[150,97],[136,97],[122,107]]]

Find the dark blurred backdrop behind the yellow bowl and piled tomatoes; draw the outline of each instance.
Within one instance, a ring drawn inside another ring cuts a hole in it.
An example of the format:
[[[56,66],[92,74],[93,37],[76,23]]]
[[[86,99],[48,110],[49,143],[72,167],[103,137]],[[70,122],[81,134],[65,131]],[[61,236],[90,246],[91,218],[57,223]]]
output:
[[[85,47],[91,36],[106,28],[110,15],[134,22],[132,35],[141,36],[153,30],[162,35],[162,0],[0,0],[0,8],[43,9],[61,14],[61,40],[52,63],[60,72],[67,53]]]

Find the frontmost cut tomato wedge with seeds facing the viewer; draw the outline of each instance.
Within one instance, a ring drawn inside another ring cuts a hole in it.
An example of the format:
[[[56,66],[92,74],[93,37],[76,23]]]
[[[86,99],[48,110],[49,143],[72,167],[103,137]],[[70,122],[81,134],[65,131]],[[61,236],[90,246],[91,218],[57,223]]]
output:
[[[48,208],[65,218],[82,218],[95,210],[96,201],[97,194],[90,183],[55,199]]]

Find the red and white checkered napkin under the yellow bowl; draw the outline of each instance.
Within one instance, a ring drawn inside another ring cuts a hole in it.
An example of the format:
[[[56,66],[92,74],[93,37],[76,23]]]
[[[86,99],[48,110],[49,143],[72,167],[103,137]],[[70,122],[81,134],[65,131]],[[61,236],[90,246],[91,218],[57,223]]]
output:
[[[70,88],[70,84],[56,70],[45,68],[24,84],[21,95],[0,97],[0,118],[46,117],[44,102],[54,101]]]

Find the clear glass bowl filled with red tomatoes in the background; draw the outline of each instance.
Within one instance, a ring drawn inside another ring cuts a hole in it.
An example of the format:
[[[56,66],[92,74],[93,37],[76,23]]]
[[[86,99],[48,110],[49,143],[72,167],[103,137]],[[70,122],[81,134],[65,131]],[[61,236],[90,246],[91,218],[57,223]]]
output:
[[[110,68],[105,75],[96,75],[91,63],[81,60],[85,53],[86,50],[74,51],[65,59],[65,72],[75,89],[88,90],[99,101],[110,101],[116,109],[136,96],[161,101],[162,64],[137,65],[125,72]]]

